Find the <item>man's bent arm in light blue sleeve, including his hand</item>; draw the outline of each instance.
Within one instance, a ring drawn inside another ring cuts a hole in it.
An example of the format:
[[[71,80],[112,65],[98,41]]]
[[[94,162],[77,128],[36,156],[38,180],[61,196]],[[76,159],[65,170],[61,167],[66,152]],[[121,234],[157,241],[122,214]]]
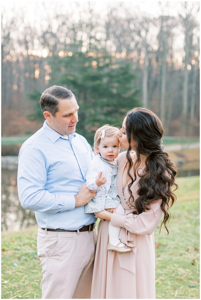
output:
[[[77,196],[59,195],[45,190],[47,161],[44,154],[33,145],[20,151],[18,164],[18,194],[25,209],[55,214],[73,210],[86,204],[94,195],[84,184]],[[86,184],[85,184],[86,185]]]

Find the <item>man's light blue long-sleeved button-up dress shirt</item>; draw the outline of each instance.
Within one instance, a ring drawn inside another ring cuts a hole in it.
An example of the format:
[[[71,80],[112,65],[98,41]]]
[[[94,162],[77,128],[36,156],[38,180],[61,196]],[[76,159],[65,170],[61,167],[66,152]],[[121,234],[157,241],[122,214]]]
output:
[[[75,207],[93,152],[81,135],[63,137],[46,122],[20,148],[19,199],[23,208],[35,211],[39,227],[77,230],[95,221],[84,206]]]

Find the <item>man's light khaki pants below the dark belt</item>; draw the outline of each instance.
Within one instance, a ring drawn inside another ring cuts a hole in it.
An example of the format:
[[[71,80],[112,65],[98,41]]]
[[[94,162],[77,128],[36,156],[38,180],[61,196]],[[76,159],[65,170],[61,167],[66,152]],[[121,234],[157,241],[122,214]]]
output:
[[[42,298],[90,298],[96,237],[96,227],[90,232],[38,229]]]

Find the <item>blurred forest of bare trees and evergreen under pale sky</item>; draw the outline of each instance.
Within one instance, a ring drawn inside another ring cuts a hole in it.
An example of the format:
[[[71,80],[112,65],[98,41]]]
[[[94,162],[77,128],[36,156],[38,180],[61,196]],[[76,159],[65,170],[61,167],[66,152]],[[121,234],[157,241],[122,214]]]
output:
[[[37,4],[36,4],[37,3]],[[51,5],[50,5],[51,3]],[[199,2],[32,1],[2,5],[2,137],[30,136],[51,85],[73,91],[77,132],[143,106],[166,136],[199,135]],[[17,155],[19,146],[4,146]]]

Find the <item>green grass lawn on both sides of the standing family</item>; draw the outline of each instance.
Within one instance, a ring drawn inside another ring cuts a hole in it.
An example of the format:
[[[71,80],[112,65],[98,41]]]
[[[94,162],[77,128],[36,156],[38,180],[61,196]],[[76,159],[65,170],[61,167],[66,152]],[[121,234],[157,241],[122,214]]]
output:
[[[169,235],[155,230],[156,297],[199,299],[199,176],[178,178]],[[41,298],[37,226],[2,233],[2,298]]]

